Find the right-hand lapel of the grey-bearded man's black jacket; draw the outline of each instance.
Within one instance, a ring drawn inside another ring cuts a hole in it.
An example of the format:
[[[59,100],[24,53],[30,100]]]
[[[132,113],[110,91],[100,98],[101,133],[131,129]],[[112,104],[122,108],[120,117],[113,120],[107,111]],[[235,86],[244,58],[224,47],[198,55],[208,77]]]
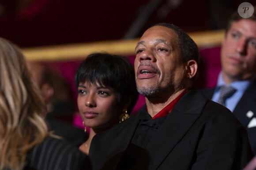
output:
[[[194,90],[188,91],[178,101],[166,121],[162,124],[162,127],[158,130],[157,136],[152,138],[147,146],[147,152],[151,159],[150,169],[157,169],[198,119],[206,102],[207,99]]]

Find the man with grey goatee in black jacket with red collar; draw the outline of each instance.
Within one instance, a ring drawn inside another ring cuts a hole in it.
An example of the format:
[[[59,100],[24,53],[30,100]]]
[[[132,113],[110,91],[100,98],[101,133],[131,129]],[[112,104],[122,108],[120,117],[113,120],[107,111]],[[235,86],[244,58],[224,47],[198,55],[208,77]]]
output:
[[[159,23],[140,38],[137,114],[94,136],[94,170],[241,170],[252,158],[245,128],[229,109],[194,90],[199,52],[179,27]]]

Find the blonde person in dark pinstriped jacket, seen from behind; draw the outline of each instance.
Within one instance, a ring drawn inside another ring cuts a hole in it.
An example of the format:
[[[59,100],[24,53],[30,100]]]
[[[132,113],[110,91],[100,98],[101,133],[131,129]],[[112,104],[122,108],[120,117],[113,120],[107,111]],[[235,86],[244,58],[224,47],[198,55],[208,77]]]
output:
[[[20,49],[0,38],[0,170],[90,169],[88,157],[48,131],[46,108]]]

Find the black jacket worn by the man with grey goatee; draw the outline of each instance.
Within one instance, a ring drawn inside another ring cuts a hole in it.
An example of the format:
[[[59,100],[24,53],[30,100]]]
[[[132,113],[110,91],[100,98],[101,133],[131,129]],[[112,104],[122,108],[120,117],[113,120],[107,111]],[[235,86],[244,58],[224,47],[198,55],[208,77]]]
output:
[[[123,123],[94,136],[94,170],[115,170],[146,106]],[[240,170],[252,158],[245,128],[224,106],[189,90],[175,105],[132,170]]]

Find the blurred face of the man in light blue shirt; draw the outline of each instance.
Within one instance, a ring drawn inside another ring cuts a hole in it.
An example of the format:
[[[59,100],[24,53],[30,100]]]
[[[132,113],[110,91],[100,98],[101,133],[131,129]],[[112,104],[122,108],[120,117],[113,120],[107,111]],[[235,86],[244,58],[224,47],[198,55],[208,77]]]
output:
[[[233,22],[222,40],[221,63],[226,83],[256,75],[256,21]]]

